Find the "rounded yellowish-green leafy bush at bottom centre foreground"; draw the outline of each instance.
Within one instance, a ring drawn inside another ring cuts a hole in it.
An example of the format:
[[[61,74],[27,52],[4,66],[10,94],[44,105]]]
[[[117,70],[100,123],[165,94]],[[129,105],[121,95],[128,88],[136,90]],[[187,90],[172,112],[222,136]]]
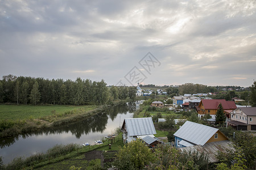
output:
[[[154,154],[142,140],[131,141],[117,153],[114,165],[118,169],[142,169],[154,162]]]

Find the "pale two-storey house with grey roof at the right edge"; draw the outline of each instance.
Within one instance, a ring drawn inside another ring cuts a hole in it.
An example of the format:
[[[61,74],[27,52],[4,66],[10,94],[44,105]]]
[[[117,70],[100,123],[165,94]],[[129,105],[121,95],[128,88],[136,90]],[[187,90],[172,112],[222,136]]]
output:
[[[228,125],[237,130],[256,130],[256,107],[234,109]]]

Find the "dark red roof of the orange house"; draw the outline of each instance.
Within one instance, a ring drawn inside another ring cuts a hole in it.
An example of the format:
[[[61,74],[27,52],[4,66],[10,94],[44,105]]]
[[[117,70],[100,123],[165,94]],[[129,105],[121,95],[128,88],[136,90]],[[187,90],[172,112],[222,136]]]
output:
[[[202,99],[201,103],[205,109],[218,109],[220,103],[225,110],[237,108],[234,101],[226,101],[225,99]]]

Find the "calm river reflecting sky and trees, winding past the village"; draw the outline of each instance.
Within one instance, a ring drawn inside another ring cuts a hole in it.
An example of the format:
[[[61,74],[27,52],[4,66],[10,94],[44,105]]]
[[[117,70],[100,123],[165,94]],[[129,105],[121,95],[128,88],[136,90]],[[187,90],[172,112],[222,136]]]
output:
[[[7,164],[17,156],[30,156],[36,152],[46,152],[55,145],[95,141],[114,133],[122,126],[124,118],[132,118],[133,112],[142,101],[127,103],[117,107],[108,107],[106,112],[69,124],[57,129],[49,129],[40,133],[23,134],[13,138],[0,139],[0,156]]]

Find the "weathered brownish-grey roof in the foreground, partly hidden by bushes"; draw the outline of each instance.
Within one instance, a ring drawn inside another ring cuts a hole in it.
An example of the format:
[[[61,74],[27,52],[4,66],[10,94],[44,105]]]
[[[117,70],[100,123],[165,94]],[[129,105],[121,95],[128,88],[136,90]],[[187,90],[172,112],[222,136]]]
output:
[[[206,143],[204,146],[195,145],[190,147],[183,147],[180,148],[181,151],[198,151],[200,153],[205,153],[210,162],[217,162],[218,159],[216,158],[217,151],[223,152],[224,149],[232,149],[232,142],[230,141],[218,141],[218,142],[210,142]]]

